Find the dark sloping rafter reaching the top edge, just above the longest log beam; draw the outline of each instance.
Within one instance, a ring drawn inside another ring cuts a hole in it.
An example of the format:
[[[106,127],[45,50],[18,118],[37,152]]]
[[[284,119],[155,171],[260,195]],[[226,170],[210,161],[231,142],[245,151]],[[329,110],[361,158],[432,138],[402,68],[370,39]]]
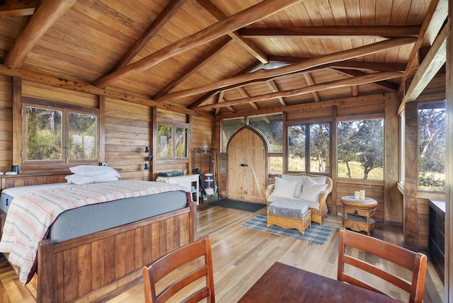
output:
[[[164,25],[170,20],[170,18],[179,10],[186,0],[171,0],[164,10],[159,13],[159,16],[149,25],[140,38],[134,42],[134,44],[122,55],[120,61],[115,64],[115,67],[110,72],[115,72],[117,69],[125,67],[129,64],[132,59],[147,45],[156,33],[164,27]]]

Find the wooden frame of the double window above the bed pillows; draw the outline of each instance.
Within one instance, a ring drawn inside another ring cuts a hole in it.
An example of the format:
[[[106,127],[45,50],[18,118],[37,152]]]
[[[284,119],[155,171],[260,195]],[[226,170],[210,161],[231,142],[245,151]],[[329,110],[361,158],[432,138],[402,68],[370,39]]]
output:
[[[61,160],[27,160],[27,115],[26,108],[53,109],[62,112],[62,159]],[[69,113],[81,113],[84,115],[96,115],[96,158],[95,159],[69,159]],[[23,97],[21,100],[21,164],[27,166],[39,166],[39,168],[57,168],[59,164],[93,164],[99,163],[101,159],[101,110],[83,105],[74,105],[58,101],[48,101],[38,98]]]

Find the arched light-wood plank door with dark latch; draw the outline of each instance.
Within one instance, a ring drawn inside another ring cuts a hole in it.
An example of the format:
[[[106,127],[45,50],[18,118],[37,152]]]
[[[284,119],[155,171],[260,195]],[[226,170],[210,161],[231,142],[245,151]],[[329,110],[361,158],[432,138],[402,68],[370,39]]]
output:
[[[265,203],[266,149],[263,139],[248,128],[228,144],[228,198]]]

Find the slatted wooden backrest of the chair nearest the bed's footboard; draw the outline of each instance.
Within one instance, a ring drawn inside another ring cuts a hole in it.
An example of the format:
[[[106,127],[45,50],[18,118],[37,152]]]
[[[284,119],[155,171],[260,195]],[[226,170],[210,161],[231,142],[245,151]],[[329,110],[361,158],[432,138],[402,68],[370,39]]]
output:
[[[200,260],[197,260],[198,258]],[[184,267],[184,270],[176,270],[187,263],[190,263],[190,265]],[[203,277],[205,277],[205,283],[202,287],[188,295],[184,302],[199,302],[204,298],[207,298],[207,302],[215,302],[211,239],[209,236],[171,251],[151,265],[144,266],[142,273],[146,303],[167,302],[184,287]],[[170,273],[171,275],[168,275]],[[171,276],[172,280],[168,281],[167,284],[168,279],[164,279],[163,290],[156,293],[156,283],[166,275]],[[176,275],[178,277],[173,279],[173,276]]]

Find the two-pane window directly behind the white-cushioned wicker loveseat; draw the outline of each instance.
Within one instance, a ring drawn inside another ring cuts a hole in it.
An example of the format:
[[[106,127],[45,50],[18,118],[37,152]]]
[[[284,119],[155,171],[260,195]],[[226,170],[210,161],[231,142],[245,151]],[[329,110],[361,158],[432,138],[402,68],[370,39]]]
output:
[[[329,123],[287,127],[288,171],[331,171],[331,125]]]

